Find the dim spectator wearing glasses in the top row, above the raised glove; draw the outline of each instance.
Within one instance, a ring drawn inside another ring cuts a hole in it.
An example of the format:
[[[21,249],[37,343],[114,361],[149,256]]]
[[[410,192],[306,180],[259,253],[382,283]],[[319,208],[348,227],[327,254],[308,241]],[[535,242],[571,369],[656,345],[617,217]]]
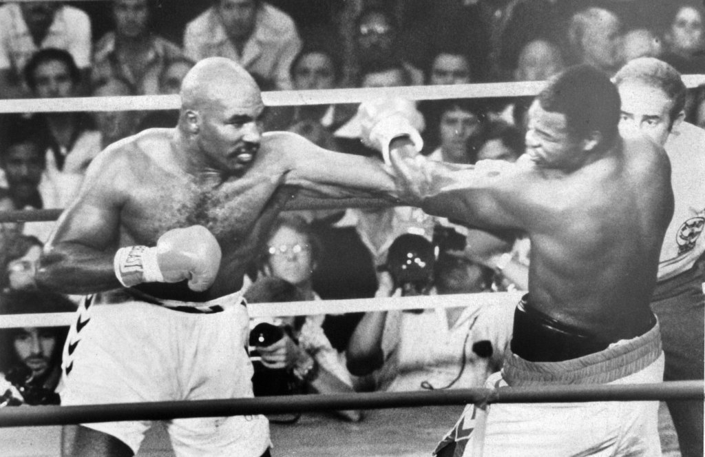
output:
[[[384,66],[399,61],[410,76],[411,85],[424,83],[424,73],[400,56],[398,24],[384,8],[370,7],[362,10],[355,21],[355,55],[353,65],[347,69],[348,83],[360,84],[363,69]]]

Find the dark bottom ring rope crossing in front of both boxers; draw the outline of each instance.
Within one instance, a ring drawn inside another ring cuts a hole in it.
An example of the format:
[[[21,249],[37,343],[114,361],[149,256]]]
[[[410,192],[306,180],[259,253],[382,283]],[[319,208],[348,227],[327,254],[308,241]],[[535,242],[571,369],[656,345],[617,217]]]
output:
[[[546,387],[466,388],[415,392],[341,393],[222,400],[111,403],[80,406],[3,408],[0,427],[69,425],[126,420],[300,413],[348,409],[410,408],[468,403],[565,403],[588,401],[702,400],[703,381],[661,384],[570,385]]]

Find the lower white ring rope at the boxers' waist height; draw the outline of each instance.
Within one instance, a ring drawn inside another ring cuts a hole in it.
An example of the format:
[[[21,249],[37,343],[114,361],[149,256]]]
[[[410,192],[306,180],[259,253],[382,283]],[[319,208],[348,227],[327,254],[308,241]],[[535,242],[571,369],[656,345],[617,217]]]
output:
[[[307,316],[316,314],[343,314],[368,311],[403,309],[431,309],[486,306],[513,306],[524,292],[479,292],[476,294],[420,295],[418,297],[358,298],[315,300],[312,302],[250,303],[247,313],[251,318],[274,316]],[[0,328],[60,327],[75,321],[73,312],[0,314]]]

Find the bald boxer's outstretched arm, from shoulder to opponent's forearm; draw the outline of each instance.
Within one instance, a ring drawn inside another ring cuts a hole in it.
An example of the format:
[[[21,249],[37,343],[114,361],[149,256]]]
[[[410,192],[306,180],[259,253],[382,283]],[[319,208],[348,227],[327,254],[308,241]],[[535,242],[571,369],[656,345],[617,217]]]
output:
[[[379,160],[326,150],[295,133],[278,135],[288,168],[286,184],[329,198],[396,197],[391,174]]]

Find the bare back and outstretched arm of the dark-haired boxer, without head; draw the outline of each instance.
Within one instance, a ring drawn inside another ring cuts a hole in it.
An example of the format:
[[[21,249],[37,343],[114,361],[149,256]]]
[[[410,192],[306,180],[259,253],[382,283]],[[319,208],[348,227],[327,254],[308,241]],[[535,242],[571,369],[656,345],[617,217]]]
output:
[[[515,164],[472,167],[424,160],[402,139],[392,143],[391,162],[403,201],[467,225],[529,235],[534,308],[603,340],[638,336],[651,316],[673,214],[666,154],[651,141],[618,138],[610,150],[556,169],[528,146]]]

